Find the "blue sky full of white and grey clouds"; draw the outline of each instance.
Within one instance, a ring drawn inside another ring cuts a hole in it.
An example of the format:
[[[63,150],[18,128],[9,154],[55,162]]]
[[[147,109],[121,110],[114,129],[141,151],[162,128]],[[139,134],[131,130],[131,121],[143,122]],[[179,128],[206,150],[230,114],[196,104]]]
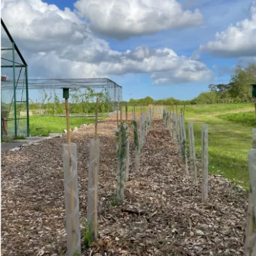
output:
[[[0,17],[30,78],[109,77],[125,100],[192,99],[256,56],[252,0],[0,0]]]

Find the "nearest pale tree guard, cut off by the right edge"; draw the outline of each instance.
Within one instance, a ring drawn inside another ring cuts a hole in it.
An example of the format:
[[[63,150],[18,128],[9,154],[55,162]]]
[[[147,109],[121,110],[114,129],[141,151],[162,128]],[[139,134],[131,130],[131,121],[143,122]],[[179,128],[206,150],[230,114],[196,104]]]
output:
[[[247,210],[244,255],[254,256],[256,253],[256,129],[252,129],[252,149],[248,152],[250,172],[250,193]]]

